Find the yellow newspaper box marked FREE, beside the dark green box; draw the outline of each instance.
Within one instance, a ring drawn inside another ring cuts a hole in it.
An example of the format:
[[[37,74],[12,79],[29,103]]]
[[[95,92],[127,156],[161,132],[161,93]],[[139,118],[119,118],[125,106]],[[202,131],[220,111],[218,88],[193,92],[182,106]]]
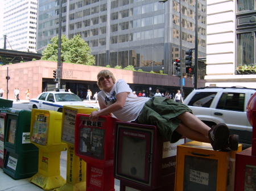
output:
[[[30,142],[39,148],[38,173],[30,182],[44,190],[53,190],[65,184],[60,176],[60,154],[67,150],[61,142],[62,113],[32,109]]]

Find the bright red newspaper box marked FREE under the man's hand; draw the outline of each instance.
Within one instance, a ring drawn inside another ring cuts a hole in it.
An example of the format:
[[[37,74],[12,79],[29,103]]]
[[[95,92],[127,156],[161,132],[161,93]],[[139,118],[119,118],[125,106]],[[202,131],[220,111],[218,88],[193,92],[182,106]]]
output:
[[[75,154],[84,160],[86,167],[86,191],[114,191],[113,117],[100,116],[90,121],[88,114],[76,115]]]

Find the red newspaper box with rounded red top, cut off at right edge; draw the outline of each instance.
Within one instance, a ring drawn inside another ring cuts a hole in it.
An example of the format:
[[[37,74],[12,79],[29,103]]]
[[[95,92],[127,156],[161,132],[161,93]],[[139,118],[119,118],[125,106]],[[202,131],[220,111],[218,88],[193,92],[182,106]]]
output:
[[[235,191],[256,190],[256,93],[251,96],[246,113],[253,126],[253,140],[250,148],[236,154]]]

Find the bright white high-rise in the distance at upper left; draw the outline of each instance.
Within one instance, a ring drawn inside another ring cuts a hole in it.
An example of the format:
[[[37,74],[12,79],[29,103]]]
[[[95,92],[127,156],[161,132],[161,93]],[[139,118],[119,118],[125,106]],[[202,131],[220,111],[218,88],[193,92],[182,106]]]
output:
[[[6,49],[36,52],[37,0],[3,0],[2,33]]]

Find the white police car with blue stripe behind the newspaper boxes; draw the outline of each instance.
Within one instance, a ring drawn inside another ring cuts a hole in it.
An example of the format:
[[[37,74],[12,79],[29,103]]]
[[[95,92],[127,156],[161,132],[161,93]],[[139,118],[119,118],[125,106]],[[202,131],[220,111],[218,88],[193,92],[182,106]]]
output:
[[[96,105],[85,103],[83,100],[80,99],[79,96],[71,92],[56,91],[43,92],[35,99],[30,99],[28,108],[48,109],[57,112],[62,112],[63,105],[84,105],[88,108],[98,109]]]

